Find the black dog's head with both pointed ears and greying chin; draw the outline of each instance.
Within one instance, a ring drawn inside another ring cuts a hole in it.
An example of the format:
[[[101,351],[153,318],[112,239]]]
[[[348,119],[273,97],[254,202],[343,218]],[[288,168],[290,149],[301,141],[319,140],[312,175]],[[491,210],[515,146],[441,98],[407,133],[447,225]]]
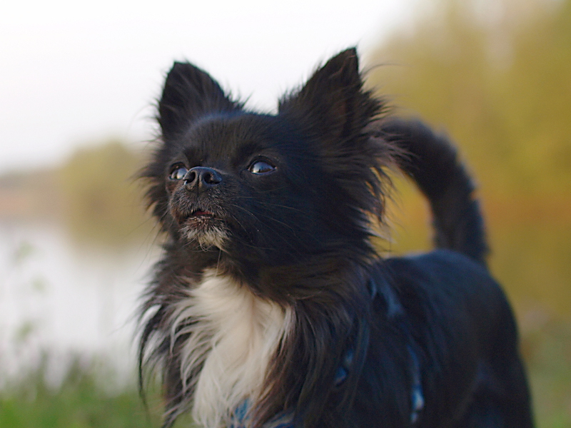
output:
[[[276,115],[243,108],[190,63],[168,73],[161,146],[143,175],[172,240],[248,265],[370,253],[389,148],[368,132],[383,104],[363,90],[355,49],[285,96]]]

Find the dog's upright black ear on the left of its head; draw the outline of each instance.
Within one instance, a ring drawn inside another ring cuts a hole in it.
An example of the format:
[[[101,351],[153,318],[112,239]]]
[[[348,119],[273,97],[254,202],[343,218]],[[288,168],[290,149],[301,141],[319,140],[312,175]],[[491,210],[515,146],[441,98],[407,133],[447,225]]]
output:
[[[239,104],[231,101],[208,73],[191,63],[176,62],[166,76],[158,102],[158,123],[168,140],[186,131],[203,114],[236,108]]]

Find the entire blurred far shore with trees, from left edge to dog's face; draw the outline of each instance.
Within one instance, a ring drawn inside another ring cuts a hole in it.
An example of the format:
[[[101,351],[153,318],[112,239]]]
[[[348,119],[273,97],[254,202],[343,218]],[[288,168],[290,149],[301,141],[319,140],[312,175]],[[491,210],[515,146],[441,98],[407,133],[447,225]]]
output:
[[[81,245],[128,248],[154,237],[137,179],[146,151],[110,138],[63,165],[0,177],[0,218],[56,221]]]

